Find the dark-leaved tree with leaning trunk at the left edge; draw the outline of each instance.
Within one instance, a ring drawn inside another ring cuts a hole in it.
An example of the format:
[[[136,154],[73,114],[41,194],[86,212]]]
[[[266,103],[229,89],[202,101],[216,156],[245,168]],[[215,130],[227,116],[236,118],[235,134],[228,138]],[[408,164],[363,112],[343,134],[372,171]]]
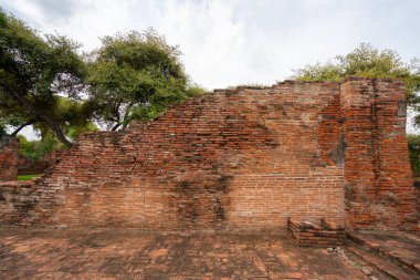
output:
[[[67,147],[72,145],[63,131],[72,110],[60,111],[60,104],[63,95],[77,100],[85,89],[78,46],[57,34],[40,37],[0,10],[0,121],[14,126],[13,134],[42,123]]]

